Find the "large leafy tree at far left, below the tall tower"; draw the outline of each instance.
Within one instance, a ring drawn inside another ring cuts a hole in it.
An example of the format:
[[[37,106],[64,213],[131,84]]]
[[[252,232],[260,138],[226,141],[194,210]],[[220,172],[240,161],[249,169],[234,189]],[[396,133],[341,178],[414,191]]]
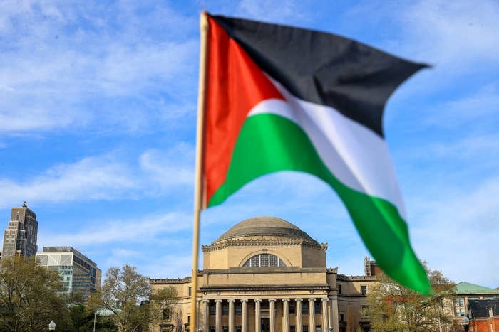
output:
[[[34,257],[2,259],[0,331],[45,331],[51,320],[67,326],[68,306],[57,295],[61,289],[58,274],[36,266]]]

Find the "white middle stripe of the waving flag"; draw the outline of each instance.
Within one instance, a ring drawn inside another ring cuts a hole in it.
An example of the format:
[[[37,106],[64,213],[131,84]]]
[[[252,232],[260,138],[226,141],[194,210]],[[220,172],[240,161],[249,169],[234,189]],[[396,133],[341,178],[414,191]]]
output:
[[[264,100],[256,114],[278,114],[301,127],[329,171],[346,186],[388,200],[406,220],[406,209],[384,139],[336,109],[300,100],[272,80],[287,101]]]

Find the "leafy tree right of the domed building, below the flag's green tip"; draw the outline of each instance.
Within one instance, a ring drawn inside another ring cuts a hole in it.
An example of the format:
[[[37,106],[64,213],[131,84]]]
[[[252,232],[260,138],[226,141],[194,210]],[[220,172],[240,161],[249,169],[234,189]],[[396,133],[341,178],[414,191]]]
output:
[[[453,294],[455,284],[442,272],[423,266],[433,288],[430,296],[393,282],[385,274],[371,287],[367,296],[367,315],[373,331],[438,331],[451,326],[452,320],[443,310],[443,300]]]

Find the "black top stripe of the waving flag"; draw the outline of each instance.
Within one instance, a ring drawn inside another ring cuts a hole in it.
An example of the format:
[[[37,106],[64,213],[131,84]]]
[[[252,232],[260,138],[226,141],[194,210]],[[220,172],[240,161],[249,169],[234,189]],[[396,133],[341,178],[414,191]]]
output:
[[[329,105],[383,137],[393,90],[427,67],[331,33],[212,16],[264,72],[302,100]]]

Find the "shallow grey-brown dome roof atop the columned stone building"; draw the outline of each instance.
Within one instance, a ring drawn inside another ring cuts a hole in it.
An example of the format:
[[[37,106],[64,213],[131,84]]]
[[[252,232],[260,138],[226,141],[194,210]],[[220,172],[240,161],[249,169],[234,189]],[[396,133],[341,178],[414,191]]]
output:
[[[280,236],[294,237],[316,242],[306,232],[281,218],[254,217],[242,220],[223,233],[215,242],[237,237]]]

